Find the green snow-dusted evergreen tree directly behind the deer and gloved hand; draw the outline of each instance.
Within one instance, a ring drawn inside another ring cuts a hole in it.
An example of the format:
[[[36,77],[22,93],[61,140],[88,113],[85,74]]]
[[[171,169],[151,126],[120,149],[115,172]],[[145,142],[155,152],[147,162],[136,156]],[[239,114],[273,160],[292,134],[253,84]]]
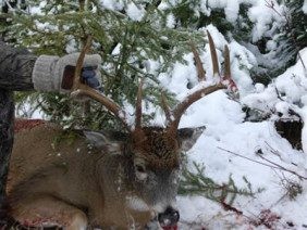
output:
[[[202,37],[188,29],[165,26],[167,18],[157,8],[159,1],[124,1],[103,5],[100,1],[29,0],[28,14],[10,11],[7,25],[0,27],[4,39],[27,47],[37,54],[63,55],[78,51],[88,35],[94,38],[94,52],[102,56],[105,93],[119,104],[135,104],[137,81],[147,78],[147,103],[159,104],[157,76],[189,52],[189,41],[202,42]],[[140,16],[139,16],[140,15]],[[148,60],[158,67],[148,67]],[[24,97],[19,95],[24,101]],[[93,103],[83,115],[83,106],[58,93],[26,94],[51,120],[69,126],[101,128],[119,125],[105,108]]]

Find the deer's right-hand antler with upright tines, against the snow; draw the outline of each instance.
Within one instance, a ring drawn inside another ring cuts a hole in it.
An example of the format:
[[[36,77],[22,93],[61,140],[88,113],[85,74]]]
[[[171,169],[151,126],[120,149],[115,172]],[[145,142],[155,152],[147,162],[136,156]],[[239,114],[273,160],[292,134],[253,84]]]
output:
[[[213,39],[212,39],[210,33],[209,31],[207,31],[207,33],[208,33],[210,54],[211,54],[211,60],[212,60],[213,76],[216,76],[216,75],[220,76],[216,46],[214,46],[214,42],[213,42]],[[206,72],[204,71],[202,64],[200,62],[199,54],[196,51],[195,46],[192,46],[192,51],[194,53],[194,59],[195,59],[198,76],[200,76],[200,75],[202,75],[202,73],[206,73]],[[231,80],[230,60],[229,59],[230,59],[229,58],[229,49],[226,48],[225,49],[225,60],[226,60],[225,61],[225,77]],[[192,105],[194,102],[198,101],[199,99],[201,99],[205,95],[208,95],[208,94],[210,94],[210,93],[212,93],[212,92],[214,92],[217,90],[226,89],[228,88],[228,86],[225,86],[222,82],[223,79],[220,79],[220,82],[218,82],[218,84],[216,84],[213,86],[200,88],[200,89],[194,91],[193,93],[187,95],[180,104],[177,104],[177,106],[172,111],[172,116],[171,115],[167,115],[167,117],[172,117],[171,122],[169,122],[169,119],[168,119],[168,123],[169,123],[168,127],[169,127],[169,130],[170,130],[171,133],[174,133],[177,130],[180,119],[181,119],[183,113],[188,108],[189,105]],[[202,77],[198,77],[198,81],[199,82],[205,81],[205,77],[204,78]]]

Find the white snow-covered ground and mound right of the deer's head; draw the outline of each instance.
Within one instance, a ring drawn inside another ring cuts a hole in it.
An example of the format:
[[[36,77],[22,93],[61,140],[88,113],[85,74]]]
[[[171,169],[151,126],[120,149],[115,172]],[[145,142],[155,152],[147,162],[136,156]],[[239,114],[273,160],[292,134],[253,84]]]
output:
[[[213,34],[217,48],[223,47],[225,41],[216,28],[209,26],[207,29]],[[237,52],[243,56],[248,54],[242,47],[241,51],[232,50],[235,42],[229,46],[231,53]],[[307,61],[307,48],[300,51],[300,55],[303,61]],[[248,55],[244,58],[247,59]],[[188,55],[186,59],[192,60]],[[208,53],[202,54],[201,59],[207,67],[207,75],[210,76],[212,71]],[[219,183],[226,183],[231,175],[238,188],[246,188],[245,177],[254,191],[263,191],[254,197],[235,199],[233,207],[243,214],[224,210],[220,204],[201,195],[179,196],[181,229],[255,229],[257,225],[258,229],[268,229],[270,226],[271,229],[307,229],[307,145],[304,141],[307,131],[303,131],[305,152],[297,151],[277,132],[277,116],[272,115],[270,119],[259,123],[244,122],[246,114],[242,111],[242,106],[246,104],[263,112],[280,112],[283,117],[287,117],[287,111],[292,108],[304,119],[306,71],[298,60],[266,88],[260,84],[253,86],[248,72],[237,68],[233,59],[232,68],[238,88],[244,89],[241,98],[234,101],[223,91],[214,92],[193,104],[181,120],[181,127],[206,126],[202,136],[187,153],[188,167],[194,170],[193,162],[204,164],[205,175]],[[195,67],[182,64],[175,66],[172,76],[160,77],[162,85],[176,93],[179,99],[188,92],[186,84],[195,80],[194,78]],[[257,154],[259,151],[260,155]],[[299,179],[290,171],[295,171],[305,179]],[[302,188],[302,193],[291,197],[292,188]]]

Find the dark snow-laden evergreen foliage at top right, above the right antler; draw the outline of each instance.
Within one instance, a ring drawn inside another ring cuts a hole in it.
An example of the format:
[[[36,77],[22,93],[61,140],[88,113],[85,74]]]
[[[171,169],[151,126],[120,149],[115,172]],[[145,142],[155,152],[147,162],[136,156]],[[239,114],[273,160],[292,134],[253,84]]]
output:
[[[174,15],[177,27],[198,29],[214,25],[229,41],[235,39],[256,55],[258,66],[251,69],[253,80],[265,85],[271,82],[295,63],[298,51],[306,47],[307,15],[303,12],[304,0],[267,0],[267,8],[283,23],[273,20],[266,25],[267,30],[257,40],[253,39],[257,23],[251,22],[248,15],[254,4],[242,1],[237,16],[233,18],[228,15],[225,2],[231,1],[172,1],[167,12]],[[283,10],[278,9],[278,4]]]

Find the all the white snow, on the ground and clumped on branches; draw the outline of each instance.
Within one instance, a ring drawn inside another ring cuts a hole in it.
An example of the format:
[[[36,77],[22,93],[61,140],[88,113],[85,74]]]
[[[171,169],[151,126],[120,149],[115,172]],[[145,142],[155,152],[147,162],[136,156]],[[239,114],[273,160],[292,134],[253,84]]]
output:
[[[122,1],[100,2],[110,10],[123,8]],[[161,10],[176,1],[163,2],[159,5]],[[268,8],[265,0],[208,0],[198,10],[210,15],[210,8],[220,8],[225,11],[226,20],[234,22],[238,16],[238,5],[243,2],[251,4],[248,17],[255,23],[253,42],[263,36],[270,37],[273,31],[268,25],[272,22],[275,27],[284,23],[284,18]],[[275,9],[279,12],[284,10],[278,4]],[[32,11],[39,13],[38,9]],[[307,0],[303,11],[307,14]],[[144,15],[144,9],[134,3],[127,5],[126,12],[135,21],[140,21]],[[167,25],[173,27],[173,16],[169,15],[168,18]],[[179,196],[180,229],[307,229],[307,128],[303,129],[304,151],[294,150],[274,128],[277,119],[291,117],[290,110],[295,111],[303,120],[307,119],[307,72],[303,66],[303,62],[307,64],[307,48],[299,51],[300,59],[294,66],[265,87],[251,80],[250,69],[268,60],[272,65],[278,65],[270,60],[270,52],[259,58],[259,51],[250,46],[242,46],[235,39],[228,42],[213,25],[200,30],[204,34],[210,31],[220,63],[223,62],[224,44],[229,46],[232,77],[238,87],[240,98],[233,100],[220,90],[197,101],[185,113],[181,127],[206,126],[197,143],[187,153],[188,168],[195,170],[193,163],[196,162],[204,165],[206,176],[218,183],[226,183],[231,175],[238,188],[246,188],[247,180],[253,191],[261,192],[253,197],[235,199],[232,206],[241,214],[225,210],[219,203],[201,195]],[[267,47],[271,52],[278,49],[273,37]],[[175,93],[179,100],[189,92],[187,82],[197,82],[193,54],[184,59],[187,64],[176,63],[171,73],[158,76],[161,86]],[[212,78],[209,46],[200,51],[200,59],[207,77]],[[148,72],[155,74],[156,65],[149,60]],[[242,110],[245,105],[271,116],[263,122],[248,122]],[[164,117],[160,108],[149,110],[157,110],[152,124],[161,124]],[[34,117],[41,117],[41,114],[35,113]],[[300,188],[302,193],[292,197],[292,187]]]

